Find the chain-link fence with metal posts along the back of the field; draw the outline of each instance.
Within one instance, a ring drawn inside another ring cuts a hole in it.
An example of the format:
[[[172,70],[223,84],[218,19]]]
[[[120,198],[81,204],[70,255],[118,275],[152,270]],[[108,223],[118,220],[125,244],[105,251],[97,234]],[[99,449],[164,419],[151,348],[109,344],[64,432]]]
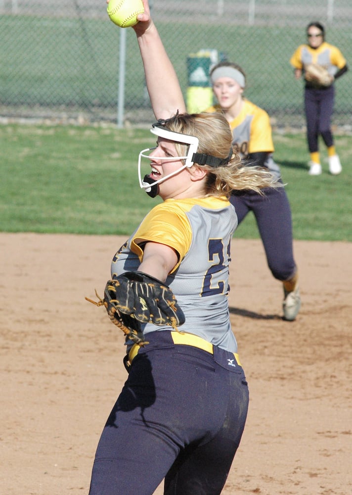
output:
[[[150,5],[185,99],[197,84],[190,61],[197,63],[203,50],[212,60],[227,58],[244,68],[246,96],[278,126],[303,126],[303,83],[294,79],[289,59],[305,43],[311,21],[325,26],[326,40],[352,65],[351,0],[151,0]],[[0,0],[0,50],[2,117],[120,125],[153,120],[134,32],[109,20],[104,0]],[[334,122],[347,128],[351,78],[352,71],[335,83]]]

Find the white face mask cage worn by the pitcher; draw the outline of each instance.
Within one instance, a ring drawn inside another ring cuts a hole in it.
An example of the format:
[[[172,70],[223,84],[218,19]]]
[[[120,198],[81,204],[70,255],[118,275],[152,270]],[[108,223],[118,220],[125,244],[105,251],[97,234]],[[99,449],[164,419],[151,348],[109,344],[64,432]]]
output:
[[[138,157],[138,179],[139,179],[139,186],[141,187],[141,189],[145,189],[146,192],[149,192],[153,186],[156,186],[157,184],[160,184],[166,179],[169,179],[169,177],[178,174],[178,172],[180,172],[184,168],[190,168],[193,165],[193,161],[192,161],[193,154],[197,152],[197,148],[199,144],[199,140],[195,136],[189,136],[187,134],[180,134],[178,132],[169,131],[168,129],[164,129],[163,127],[159,127],[159,126],[152,127],[150,129],[150,132],[152,132],[156,136],[159,136],[160,138],[167,139],[168,141],[174,141],[176,143],[184,143],[186,145],[189,145],[189,148],[188,148],[187,156],[171,156],[171,157],[153,156],[153,158],[157,158],[163,161],[185,160],[185,163],[180,168],[175,170],[175,172],[172,172],[171,174],[168,174],[165,177],[162,177],[161,179],[158,179],[152,183],[145,182],[142,179],[141,158],[142,157],[149,158],[149,154],[146,154],[146,152],[152,151],[153,149],[156,149],[156,147],[142,149]]]

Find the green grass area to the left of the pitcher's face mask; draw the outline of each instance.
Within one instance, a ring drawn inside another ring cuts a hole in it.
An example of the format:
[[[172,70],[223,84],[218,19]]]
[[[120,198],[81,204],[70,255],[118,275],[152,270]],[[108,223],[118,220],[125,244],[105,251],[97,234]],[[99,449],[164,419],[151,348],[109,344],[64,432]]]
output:
[[[0,127],[0,230],[130,232],[150,207],[139,190],[146,131]]]

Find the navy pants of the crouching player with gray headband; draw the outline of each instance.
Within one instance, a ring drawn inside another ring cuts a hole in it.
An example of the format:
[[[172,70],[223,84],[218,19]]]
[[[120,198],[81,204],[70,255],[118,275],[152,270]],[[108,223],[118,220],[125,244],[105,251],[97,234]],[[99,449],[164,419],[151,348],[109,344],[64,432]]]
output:
[[[284,188],[263,191],[264,196],[252,191],[236,192],[230,202],[236,209],[238,224],[253,211],[271,273],[278,280],[289,280],[296,272],[290,203]]]

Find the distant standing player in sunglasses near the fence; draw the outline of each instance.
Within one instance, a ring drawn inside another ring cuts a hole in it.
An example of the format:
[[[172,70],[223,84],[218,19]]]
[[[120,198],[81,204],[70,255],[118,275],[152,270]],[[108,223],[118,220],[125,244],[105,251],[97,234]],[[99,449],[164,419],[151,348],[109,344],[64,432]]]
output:
[[[331,130],[331,118],[334,110],[334,81],[347,72],[346,59],[341,51],[326,43],[324,26],[319,22],[311,22],[307,26],[308,43],[300,45],[292,55],[290,62],[295,67],[295,77],[305,79],[304,103],[307,121],[307,140],[310,153],[309,174],[320,175],[321,164],[318,138],[322,137],[328,151],[329,171],[337,175],[342,166],[334,146]],[[308,64],[325,67],[330,76],[328,83],[320,84],[308,77]]]

